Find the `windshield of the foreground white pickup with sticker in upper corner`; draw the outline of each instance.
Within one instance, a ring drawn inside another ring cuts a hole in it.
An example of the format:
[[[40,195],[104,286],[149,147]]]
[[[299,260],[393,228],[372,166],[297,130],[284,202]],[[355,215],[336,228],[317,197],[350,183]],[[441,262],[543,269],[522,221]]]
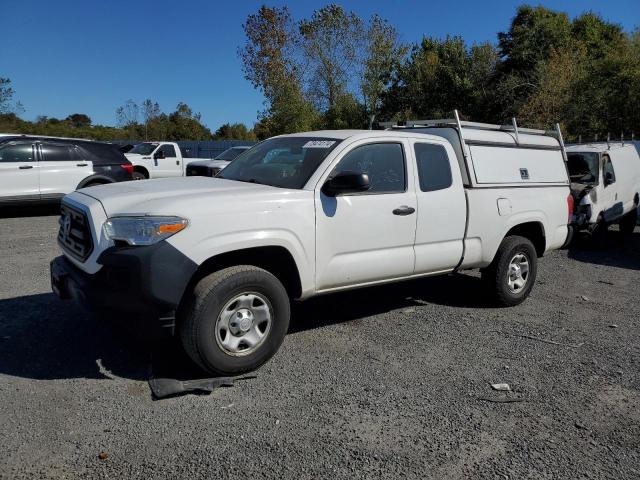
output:
[[[340,141],[319,137],[272,138],[239,156],[217,176],[227,180],[301,189]]]

